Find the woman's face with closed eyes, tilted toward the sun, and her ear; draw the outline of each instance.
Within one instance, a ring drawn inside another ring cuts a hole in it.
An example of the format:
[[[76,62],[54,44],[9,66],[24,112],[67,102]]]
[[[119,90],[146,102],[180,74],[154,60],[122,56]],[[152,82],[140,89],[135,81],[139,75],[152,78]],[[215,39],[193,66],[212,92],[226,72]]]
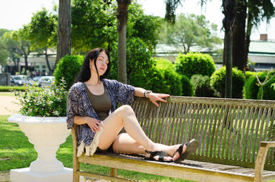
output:
[[[98,75],[102,76],[107,70],[109,64],[109,59],[106,53],[100,52],[98,58],[96,59],[96,67],[98,68]],[[91,71],[96,72],[96,67],[94,66],[94,60],[90,61]]]

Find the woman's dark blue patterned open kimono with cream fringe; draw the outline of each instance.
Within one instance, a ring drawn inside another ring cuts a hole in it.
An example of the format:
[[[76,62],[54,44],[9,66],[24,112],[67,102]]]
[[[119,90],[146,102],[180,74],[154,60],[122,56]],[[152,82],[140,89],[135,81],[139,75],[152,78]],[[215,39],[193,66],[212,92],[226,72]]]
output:
[[[129,84],[122,84],[117,80],[102,79],[107,95],[111,100],[111,110],[109,114],[115,111],[116,102],[121,104],[131,104],[134,99],[135,88]],[[99,120],[94,107],[89,101],[85,84],[77,82],[69,89],[67,99],[67,128],[70,129],[74,125],[74,116],[89,116]],[[79,157],[86,150],[85,155],[93,155],[98,147],[99,138],[102,133],[100,131],[94,133],[87,124],[77,125],[78,136],[78,154]]]

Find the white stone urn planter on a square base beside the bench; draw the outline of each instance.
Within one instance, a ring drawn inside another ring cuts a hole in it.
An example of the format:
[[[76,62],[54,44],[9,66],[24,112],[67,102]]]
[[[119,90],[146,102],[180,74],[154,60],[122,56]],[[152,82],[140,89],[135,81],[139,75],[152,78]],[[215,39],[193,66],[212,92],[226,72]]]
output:
[[[66,117],[12,115],[8,121],[19,124],[38,153],[30,168],[11,170],[10,181],[72,181],[72,169],[64,168],[63,163],[56,159],[59,145],[66,141],[71,131],[67,129]]]

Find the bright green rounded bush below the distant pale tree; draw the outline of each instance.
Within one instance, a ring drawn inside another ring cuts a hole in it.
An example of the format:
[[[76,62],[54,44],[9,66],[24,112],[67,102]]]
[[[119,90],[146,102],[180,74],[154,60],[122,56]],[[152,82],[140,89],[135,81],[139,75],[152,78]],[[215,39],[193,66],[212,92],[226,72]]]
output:
[[[192,75],[211,76],[216,70],[212,57],[208,54],[179,54],[175,61],[177,73],[191,78]]]

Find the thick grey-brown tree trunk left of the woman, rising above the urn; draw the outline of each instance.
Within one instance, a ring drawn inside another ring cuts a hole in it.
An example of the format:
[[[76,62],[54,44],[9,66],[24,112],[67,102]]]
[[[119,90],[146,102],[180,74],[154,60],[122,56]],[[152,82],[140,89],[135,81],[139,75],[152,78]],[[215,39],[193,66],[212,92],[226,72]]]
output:
[[[59,0],[57,35],[56,64],[63,56],[71,54],[71,0]]]

